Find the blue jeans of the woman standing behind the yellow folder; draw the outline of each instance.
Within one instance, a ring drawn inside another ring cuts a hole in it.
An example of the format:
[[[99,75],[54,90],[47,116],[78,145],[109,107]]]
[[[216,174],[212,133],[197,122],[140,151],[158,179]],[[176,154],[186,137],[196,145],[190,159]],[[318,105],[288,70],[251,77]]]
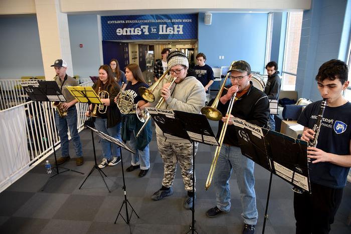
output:
[[[94,122],[96,130],[105,133],[106,135],[112,136],[120,141],[121,138],[121,122],[119,122],[116,126],[111,128],[107,128],[107,119],[99,119],[96,118]],[[119,150],[119,146],[111,143],[103,138],[100,139],[101,147],[102,147],[102,156],[106,158],[108,161],[112,160],[112,157],[121,156],[121,152]]]

